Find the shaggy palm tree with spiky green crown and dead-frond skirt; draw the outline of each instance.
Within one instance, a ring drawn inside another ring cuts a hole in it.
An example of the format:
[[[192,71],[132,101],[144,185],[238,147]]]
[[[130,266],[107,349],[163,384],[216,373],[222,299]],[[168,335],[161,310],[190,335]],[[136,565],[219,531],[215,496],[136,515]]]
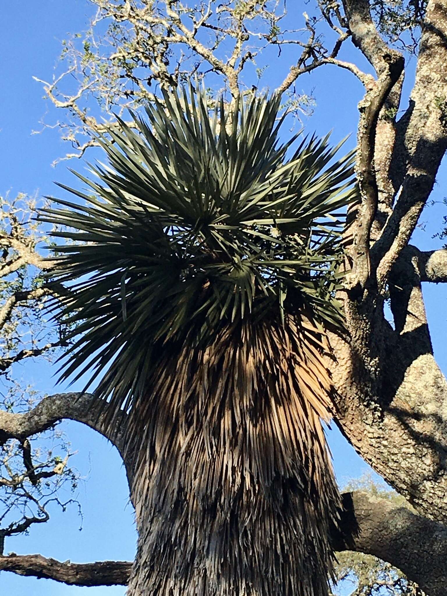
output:
[[[280,97],[165,93],[98,139],[109,165],[42,218],[71,243],[63,378],[128,412],[139,531],[129,594],[327,594],[339,493],[324,330],[353,156],[279,144]],[[61,185],[62,186],[62,185]],[[62,229],[61,227],[62,226]]]

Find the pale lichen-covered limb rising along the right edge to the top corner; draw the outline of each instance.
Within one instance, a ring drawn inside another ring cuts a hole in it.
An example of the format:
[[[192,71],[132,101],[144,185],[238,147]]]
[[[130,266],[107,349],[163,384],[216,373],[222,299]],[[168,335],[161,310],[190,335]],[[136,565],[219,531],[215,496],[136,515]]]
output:
[[[447,149],[447,11],[445,2],[427,4],[416,82],[405,122],[406,175],[395,209],[373,247],[379,287],[409,241]]]

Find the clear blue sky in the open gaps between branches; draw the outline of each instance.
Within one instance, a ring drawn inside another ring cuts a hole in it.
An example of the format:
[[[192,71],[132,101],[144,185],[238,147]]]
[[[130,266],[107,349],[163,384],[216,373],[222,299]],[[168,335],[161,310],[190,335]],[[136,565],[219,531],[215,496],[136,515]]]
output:
[[[69,32],[86,29],[93,11],[94,7],[87,0],[4,3],[0,35],[0,193],[9,190],[12,195],[18,192],[37,193],[40,196],[57,194],[60,190],[53,181],[68,185],[74,183],[67,165],[75,169],[82,168],[78,161],[69,164],[63,162],[56,168],[51,167],[50,164],[67,151],[57,130],[48,129],[39,135],[31,134],[33,130],[39,129],[39,120],[47,110],[48,122],[55,122],[58,117],[63,117],[63,114],[58,114],[55,108],[42,100],[42,86],[32,77],[37,76],[44,80],[51,78],[61,51],[61,39]],[[353,48],[348,49],[343,57],[358,60]],[[278,62],[278,68],[283,69],[284,74],[288,66],[282,59]],[[412,69],[414,65],[411,63],[408,67],[410,73]],[[278,71],[275,64],[271,64],[269,70],[273,74],[266,72],[266,83],[273,86],[274,76],[277,76]],[[272,78],[269,79],[269,76]],[[407,83],[407,91],[409,83],[411,80]],[[317,100],[315,113],[306,122],[309,132],[315,130],[318,134],[325,134],[333,129],[334,141],[353,133],[349,143],[355,143],[356,104],[362,97],[362,87],[355,77],[335,67],[327,67],[299,79],[297,89],[307,93],[313,90]],[[402,107],[406,107],[406,100]],[[442,201],[445,181],[445,173],[441,173],[433,193],[434,200]],[[424,212],[422,219],[426,222],[426,229],[418,229],[415,233],[415,240],[421,249],[440,246],[439,241],[432,240],[432,235],[439,231],[442,217],[446,214],[447,207],[440,203]],[[443,285],[432,285],[424,288],[424,291],[429,321],[432,321],[435,352],[440,365],[446,370],[446,354],[443,351],[446,290]],[[436,325],[433,324],[435,321]],[[53,370],[46,364],[26,365],[17,368],[16,372],[24,381],[34,383],[43,392],[51,394],[64,389],[55,387]],[[136,544],[133,511],[128,502],[125,473],[116,450],[97,433],[80,424],[64,423],[64,429],[73,449],[78,451],[73,462],[83,475],[88,476],[80,484],[78,495],[84,515],[82,532],[79,532],[79,519],[75,509],[64,514],[55,510],[51,520],[32,528],[29,536],[10,538],[6,551],[20,554],[40,552],[62,561],[131,560]],[[328,440],[337,478],[342,485],[346,480],[358,477],[369,469],[337,430],[328,432]],[[125,588],[77,588],[1,573],[0,594],[112,596],[125,594]]]

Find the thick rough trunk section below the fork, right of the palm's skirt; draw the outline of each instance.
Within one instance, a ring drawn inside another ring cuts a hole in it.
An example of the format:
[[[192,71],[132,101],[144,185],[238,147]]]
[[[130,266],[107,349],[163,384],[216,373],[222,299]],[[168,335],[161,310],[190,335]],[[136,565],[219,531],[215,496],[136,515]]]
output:
[[[390,284],[395,329],[372,301],[349,312],[353,339],[331,336],[337,424],[418,511],[447,523],[447,380],[433,356],[415,263],[402,268]]]

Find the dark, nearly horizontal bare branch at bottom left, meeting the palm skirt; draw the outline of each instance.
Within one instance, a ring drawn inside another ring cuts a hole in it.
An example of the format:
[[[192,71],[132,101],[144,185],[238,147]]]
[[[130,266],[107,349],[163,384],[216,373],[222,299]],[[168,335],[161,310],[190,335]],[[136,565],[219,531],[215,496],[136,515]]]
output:
[[[132,563],[99,561],[98,563],[61,563],[42,555],[0,557],[0,570],[39,579],[54,579],[75,586],[125,586],[129,582]]]

